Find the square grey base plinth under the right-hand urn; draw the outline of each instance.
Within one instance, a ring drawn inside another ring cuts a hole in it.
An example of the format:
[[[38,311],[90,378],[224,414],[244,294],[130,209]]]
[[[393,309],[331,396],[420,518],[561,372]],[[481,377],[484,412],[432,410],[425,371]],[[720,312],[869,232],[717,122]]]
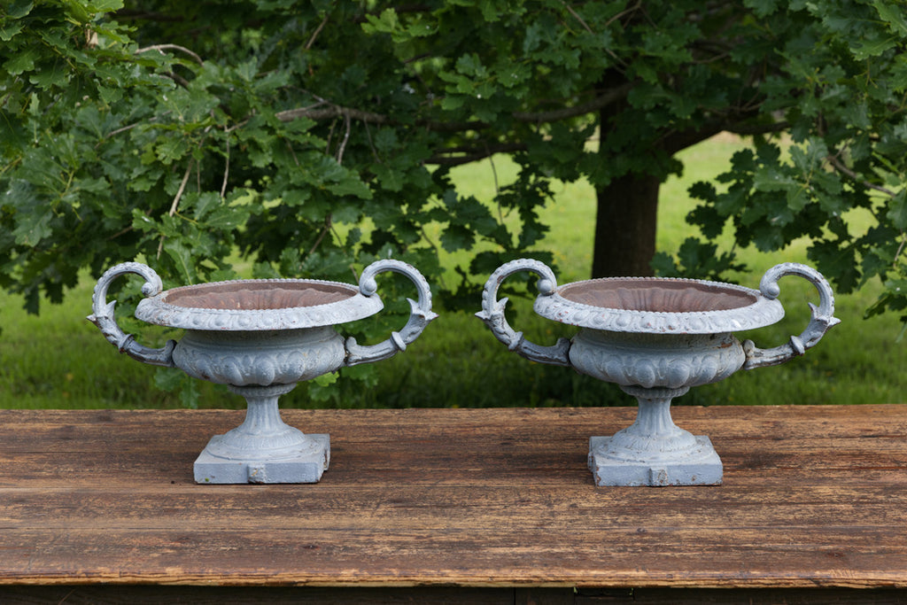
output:
[[[689,461],[646,462],[615,460],[606,455],[610,437],[590,437],[589,469],[595,484],[605,485],[720,485],[721,459],[706,435],[697,435],[697,456]]]

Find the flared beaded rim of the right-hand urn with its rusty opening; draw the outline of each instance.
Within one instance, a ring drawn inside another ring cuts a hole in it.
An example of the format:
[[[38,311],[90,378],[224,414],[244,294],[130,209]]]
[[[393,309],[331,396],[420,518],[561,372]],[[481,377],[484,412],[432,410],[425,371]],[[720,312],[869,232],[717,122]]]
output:
[[[770,326],[778,300],[752,288],[704,279],[598,278],[571,282],[535,300],[541,317],[571,326],[644,334],[718,334]]]

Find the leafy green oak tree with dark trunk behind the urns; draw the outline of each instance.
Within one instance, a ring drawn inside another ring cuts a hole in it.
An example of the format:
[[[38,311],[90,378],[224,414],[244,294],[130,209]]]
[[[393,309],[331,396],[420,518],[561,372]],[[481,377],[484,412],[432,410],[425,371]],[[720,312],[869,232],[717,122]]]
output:
[[[349,280],[394,254],[449,301],[544,253],[552,179],[598,197],[593,273],[645,274],[675,154],[753,136],[691,217],[741,245],[807,236],[873,311],[907,307],[907,18],[897,0],[13,0],[0,9],[0,285],[36,309],[142,256],[168,283]],[[789,159],[773,136],[792,141]],[[597,149],[589,141],[596,137]],[[493,206],[455,165],[509,153]],[[873,214],[853,232],[848,210]],[[509,215],[516,220],[506,220]],[[435,237],[430,226],[436,226]],[[480,246],[481,244],[481,246]],[[441,250],[473,249],[459,282]],[[542,256],[542,258],[544,258]],[[663,272],[736,267],[690,239]]]

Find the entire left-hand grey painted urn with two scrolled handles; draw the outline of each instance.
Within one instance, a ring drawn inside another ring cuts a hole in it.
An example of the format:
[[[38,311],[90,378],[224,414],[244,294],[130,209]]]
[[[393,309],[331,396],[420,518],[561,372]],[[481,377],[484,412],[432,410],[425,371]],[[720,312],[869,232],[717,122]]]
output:
[[[375,276],[394,271],[418,291],[405,327],[384,342],[361,346],[335,326],[375,315],[384,306]],[[182,328],[179,342],[154,349],[123,333],[107,302],[113,279],[145,278],[135,317]],[[243,424],[215,435],[194,464],[198,483],[317,483],[330,463],[327,434],[303,434],[280,418],[278,397],[298,382],[343,366],[380,361],[402,351],[434,317],[432,295],[419,271],[393,259],[369,265],[358,287],[317,279],[240,279],[161,291],[161,278],[139,263],[122,263],[94,288],[91,320],[104,337],[143,363],[172,366],[194,378],[229,385],[245,397]]]

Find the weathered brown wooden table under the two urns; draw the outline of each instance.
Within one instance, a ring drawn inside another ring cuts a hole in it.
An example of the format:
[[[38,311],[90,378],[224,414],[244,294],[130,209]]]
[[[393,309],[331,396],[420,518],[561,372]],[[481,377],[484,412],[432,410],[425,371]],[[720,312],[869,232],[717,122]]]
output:
[[[635,408],[287,410],[309,485],[197,485],[231,411],[0,411],[0,602],[907,602],[907,405],[680,407],[717,487],[599,488]]]

